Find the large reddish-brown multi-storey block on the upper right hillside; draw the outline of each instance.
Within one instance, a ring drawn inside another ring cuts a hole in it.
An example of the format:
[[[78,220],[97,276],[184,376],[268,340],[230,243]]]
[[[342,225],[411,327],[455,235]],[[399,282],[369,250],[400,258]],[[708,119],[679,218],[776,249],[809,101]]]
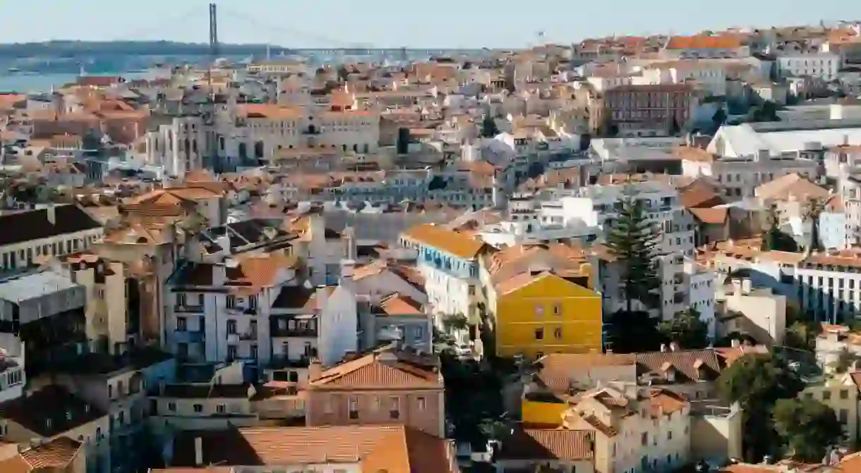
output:
[[[611,126],[620,136],[667,136],[691,119],[697,98],[690,85],[625,85],[604,92]]]

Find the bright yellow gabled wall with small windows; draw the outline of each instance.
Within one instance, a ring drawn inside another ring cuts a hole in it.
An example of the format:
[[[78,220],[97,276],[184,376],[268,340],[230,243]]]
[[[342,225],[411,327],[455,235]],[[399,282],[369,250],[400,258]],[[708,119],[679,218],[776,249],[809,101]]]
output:
[[[523,353],[536,358],[548,353],[601,351],[603,321],[598,292],[548,274],[498,295],[495,307],[498,356]]]

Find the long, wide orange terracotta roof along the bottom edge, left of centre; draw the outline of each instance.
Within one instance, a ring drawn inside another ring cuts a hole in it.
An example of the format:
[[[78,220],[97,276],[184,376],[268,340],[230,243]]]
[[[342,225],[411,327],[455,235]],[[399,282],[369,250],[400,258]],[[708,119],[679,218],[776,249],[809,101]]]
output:
[[[362,471],[452,473],[449,442],[403,426],[251,427],[177,435],[174,463],[194,464],[195,438],[205,464],[361,464]],[[171,472],[172,473],[172,472]]]

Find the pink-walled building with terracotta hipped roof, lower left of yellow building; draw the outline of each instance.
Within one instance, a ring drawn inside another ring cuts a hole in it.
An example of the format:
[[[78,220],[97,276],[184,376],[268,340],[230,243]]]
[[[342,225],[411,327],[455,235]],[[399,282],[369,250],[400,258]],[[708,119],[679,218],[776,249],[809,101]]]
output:
[[[443,376],[437,357],[383,347],[323,369],[309,368],[306,425],[401,424],[445,437]]]

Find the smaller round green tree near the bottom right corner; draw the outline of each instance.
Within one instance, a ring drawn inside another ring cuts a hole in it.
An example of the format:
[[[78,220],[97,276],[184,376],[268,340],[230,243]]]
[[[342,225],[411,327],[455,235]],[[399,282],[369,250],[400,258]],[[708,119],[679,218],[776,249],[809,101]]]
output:
[[[772,415],[774,427],[792,457],[813,462],[842,436],[834,410],[815,399],[780,399]]]

